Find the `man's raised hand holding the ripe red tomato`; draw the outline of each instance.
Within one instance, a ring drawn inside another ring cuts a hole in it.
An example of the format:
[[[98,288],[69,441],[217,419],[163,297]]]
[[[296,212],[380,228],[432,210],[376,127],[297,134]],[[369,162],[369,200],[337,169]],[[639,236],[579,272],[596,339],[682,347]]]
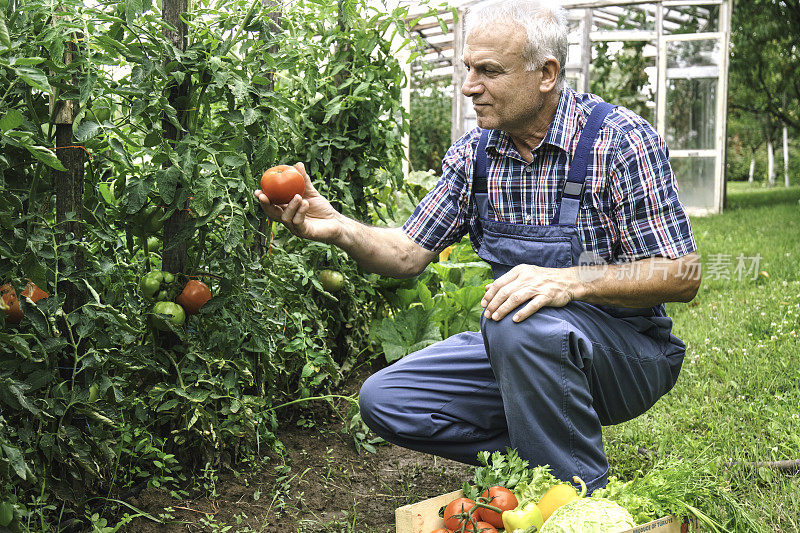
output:
[[[280,222],[298,237],[313,241],[335,242],[342,232],[341,214],[311,184],[303,163],[296,163],[294,168],[302,174],[306,182],[303,196],[296,194],[288,204],[275,205],[261,189],[258,189],[253,194],[261,203],[261,210],[271,220]]]

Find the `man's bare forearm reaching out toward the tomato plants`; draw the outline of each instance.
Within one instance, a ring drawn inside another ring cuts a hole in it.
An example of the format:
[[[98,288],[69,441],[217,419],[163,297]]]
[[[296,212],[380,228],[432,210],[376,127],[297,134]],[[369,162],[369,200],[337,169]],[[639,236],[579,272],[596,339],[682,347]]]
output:
[[[399,228],[378,228],[342,216],[342,230],[331,241],[362,268],[382,276],[411,277],[435,254],[417,246]]]

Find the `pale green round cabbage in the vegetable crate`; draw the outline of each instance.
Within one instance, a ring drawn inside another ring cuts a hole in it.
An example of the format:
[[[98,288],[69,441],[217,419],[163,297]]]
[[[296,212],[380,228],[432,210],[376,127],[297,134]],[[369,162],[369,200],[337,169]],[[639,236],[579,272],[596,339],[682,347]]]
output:
[[[556,509],[540,533],[618,533],[636,523],[619,504],[605,498],[579,498]]]

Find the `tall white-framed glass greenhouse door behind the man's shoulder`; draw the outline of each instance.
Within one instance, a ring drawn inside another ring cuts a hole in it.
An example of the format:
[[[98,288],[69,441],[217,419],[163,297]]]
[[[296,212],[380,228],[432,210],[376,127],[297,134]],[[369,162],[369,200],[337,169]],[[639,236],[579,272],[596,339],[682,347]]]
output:
[[[656,127],[670,148],[691,214],[722,210],[727,108],[728,0],[662,2]]]

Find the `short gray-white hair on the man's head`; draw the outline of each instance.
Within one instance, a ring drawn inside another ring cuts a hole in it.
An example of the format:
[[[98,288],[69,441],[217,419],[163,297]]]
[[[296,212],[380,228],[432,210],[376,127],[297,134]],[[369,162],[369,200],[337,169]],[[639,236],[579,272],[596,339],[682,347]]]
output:
[[[567,66],[567,12],[555,0],[501,0],[470,10],[466,29],[486,28],[498,22],[513,22],[522,26],[527,35],[522,57],[525,70],[541,68],[553,58],[561,67],[558,86],[564,85]]]

